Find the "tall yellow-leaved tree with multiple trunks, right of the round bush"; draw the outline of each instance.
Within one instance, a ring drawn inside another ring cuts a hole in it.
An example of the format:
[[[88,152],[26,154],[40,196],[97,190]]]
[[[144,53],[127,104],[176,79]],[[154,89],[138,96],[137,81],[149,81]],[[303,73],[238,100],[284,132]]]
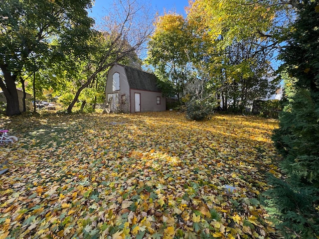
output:
[[[283,39],[278,32],[289,29],[290,15],[285,13],[291,8],[280,0],[190,2],[188,22],[193,36],[202,39],[195,55],[224,110],[229,100],[243,110],[247,101],[275,90],[270,59]]]

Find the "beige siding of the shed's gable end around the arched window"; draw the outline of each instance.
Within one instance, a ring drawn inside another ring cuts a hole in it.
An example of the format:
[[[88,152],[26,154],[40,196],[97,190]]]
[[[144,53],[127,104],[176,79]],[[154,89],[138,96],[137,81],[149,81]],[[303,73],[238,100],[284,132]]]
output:
[[[113,74],[118,72],[120,74],[120,90],[113,92],[112,82]],[[106,82],[106,99],[108,99],[109,94],[118,93],[119,94],[119,112],[130,113],[130,87],[127,81],[125,70],[123,66],[114,65],[108,72],[107,82]],[[125,96],[125,97],[124,97]],[[123,104],[125,103],[125,104]]]

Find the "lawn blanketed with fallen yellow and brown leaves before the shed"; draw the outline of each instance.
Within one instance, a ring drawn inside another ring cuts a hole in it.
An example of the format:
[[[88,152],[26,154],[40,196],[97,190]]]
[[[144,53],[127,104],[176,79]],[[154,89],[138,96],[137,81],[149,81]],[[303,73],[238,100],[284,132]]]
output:
[[[0,239],[277,238],[277,121],[176,112],[2,118]],[[227,189],[234,187],[235,190]]]

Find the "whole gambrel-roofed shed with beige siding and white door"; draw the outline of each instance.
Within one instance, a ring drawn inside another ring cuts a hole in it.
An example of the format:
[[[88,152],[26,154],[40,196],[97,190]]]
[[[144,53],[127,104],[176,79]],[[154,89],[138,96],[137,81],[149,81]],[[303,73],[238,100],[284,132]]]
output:
[[[108,72],[105,93],[111,112],[166,110],[156,76],[133,67],[115,64]]]

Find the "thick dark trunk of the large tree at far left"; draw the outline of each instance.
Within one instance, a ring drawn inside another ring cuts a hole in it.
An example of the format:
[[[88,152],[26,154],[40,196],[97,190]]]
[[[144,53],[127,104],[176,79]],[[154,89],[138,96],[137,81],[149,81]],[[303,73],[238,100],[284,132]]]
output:
[[[6,115],[19,115],[21,112],[19,110],[19,99],[15,87],[15,79],[17,76],[11,75],[11,72],[7,70],[7,66],[5,65],[1,65],[0,68],[4,77],[4,82],[0,79],[0,88],[6,98]]]

